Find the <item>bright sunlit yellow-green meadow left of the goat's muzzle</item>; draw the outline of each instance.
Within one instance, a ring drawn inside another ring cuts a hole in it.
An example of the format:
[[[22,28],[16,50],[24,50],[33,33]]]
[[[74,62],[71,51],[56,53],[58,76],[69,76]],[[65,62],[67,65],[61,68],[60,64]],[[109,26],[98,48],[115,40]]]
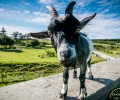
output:
[[[57,57],[47,57],[48,48],[42,49],[21,49],[21,50],[0,50],[0,63],[38,63],[58,62]],[[54,51],[53,48],[49,50]],[[19,51],[19,52],[18,52]],[[44,58],[41,56],[44,55]]]

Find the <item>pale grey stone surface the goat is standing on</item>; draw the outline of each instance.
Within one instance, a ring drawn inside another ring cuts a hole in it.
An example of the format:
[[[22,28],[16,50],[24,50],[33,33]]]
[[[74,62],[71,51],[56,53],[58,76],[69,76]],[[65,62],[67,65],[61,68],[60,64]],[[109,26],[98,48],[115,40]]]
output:
[[[87,100],[105,100],[105,94],[120,83],[120,58],[92,65],[94,80],[86,76]],[[67,100],[77,100],[79,94],[79,69],[76,79],[70,71]],[[117,81],[117,82],[116,82]],[[62,73],[38,78],[0,88],[0,100],[63,100],[59,98]],[[100,99],[101,98],[101,99]]]

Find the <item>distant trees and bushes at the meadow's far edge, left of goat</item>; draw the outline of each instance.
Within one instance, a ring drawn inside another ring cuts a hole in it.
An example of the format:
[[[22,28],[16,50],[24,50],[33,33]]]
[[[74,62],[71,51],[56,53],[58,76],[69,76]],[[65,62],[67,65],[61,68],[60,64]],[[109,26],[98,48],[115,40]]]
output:
[[[11,37],[8,36],[7,31],[3,27],[0,31],[0,45],[1,48],[13,48],[16,46],[32,47],[32,48],[41,48],[45,46],[46,42],[40,42],[37,39],[34,39],[30,36],[29,33],[22,34],[18,31],[13,32]]]

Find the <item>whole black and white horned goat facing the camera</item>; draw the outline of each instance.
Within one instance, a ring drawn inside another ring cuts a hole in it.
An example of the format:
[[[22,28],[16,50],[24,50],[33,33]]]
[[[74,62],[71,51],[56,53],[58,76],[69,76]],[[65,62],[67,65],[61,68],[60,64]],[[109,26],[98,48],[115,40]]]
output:
[[[38,33],[31,33],[31,36],[39,39],[51,38],[53,47],[57,53],[60,63],[63,65],[63,87],[60,92],[61,98],[66,98],[68,91],[69,67],[73,67],[73,77],[77,77],[76,66],[80,68],[80,94],[79,98],[87,96],[85,87],[85,74],[88,65],[89,78],[93,79],[90,68],[90,60],[93,51],[92,41],[80,30],[95,17],[93,15],[79,21],[73,15],[75,1],[68,4],[63,16],[59,16],[55,8],[47,6],[52,19],[48,30]]]

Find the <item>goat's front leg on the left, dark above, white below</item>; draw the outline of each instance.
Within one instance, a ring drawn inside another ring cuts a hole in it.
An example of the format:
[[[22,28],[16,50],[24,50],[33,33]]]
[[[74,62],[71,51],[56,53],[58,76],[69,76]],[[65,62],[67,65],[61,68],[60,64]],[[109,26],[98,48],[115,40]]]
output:
[[[63,88],[60,93],[60,98],[66,98],[68,91],[69,68],[64,67],[63,70]]]

